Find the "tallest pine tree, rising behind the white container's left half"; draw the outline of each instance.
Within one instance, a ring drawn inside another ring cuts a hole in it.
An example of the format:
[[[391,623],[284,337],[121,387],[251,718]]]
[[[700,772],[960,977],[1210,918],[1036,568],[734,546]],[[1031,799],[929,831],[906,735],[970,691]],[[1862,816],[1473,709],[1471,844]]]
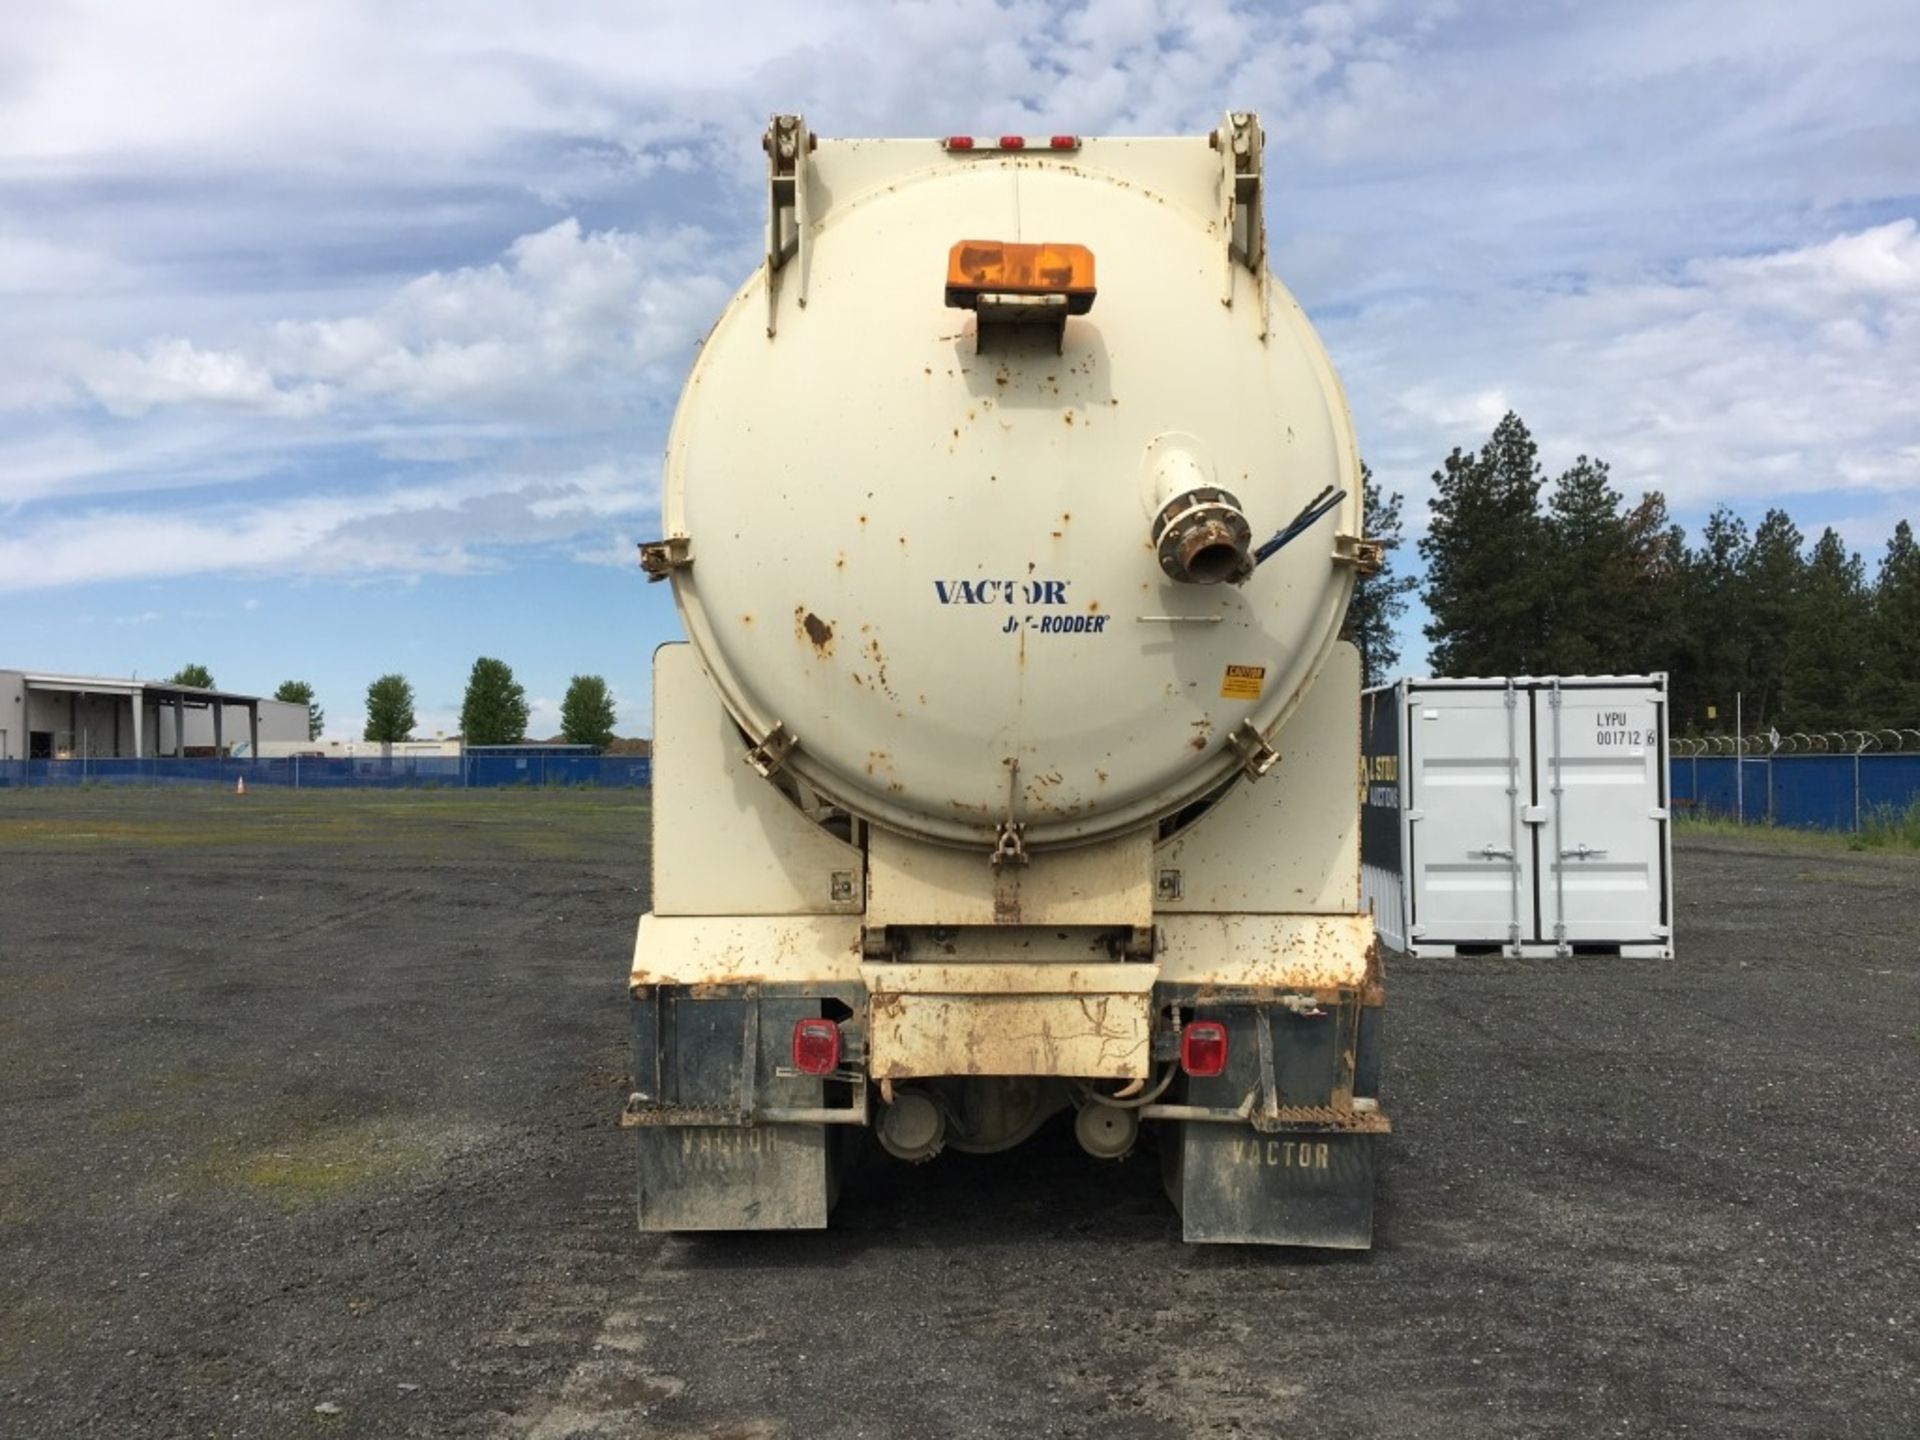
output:
[[[1521,417],[1509,411],[1478,453],[1448,455],[1434,490],[1421,540],[1434,672],[1538,672],[1551,576],[1542,564],[1540,463]]]

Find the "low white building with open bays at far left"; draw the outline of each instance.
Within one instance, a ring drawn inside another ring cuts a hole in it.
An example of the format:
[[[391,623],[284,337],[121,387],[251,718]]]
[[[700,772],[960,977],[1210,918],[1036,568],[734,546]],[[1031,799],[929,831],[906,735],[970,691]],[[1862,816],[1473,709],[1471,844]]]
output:
[[[307,707],[163,680],[0,670],[0,760],[288,755]]]

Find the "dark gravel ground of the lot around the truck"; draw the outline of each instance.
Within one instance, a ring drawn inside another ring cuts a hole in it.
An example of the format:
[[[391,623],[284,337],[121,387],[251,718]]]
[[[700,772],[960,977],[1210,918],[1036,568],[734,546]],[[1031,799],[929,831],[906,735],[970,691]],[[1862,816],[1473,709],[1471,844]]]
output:
[[[0,1434],[1920,1434],[1920,860],[1678,849],[1680,962],[1388,970],[1371,1254],[1156,1165],[632,1229],[630,795],[0,795]]]

